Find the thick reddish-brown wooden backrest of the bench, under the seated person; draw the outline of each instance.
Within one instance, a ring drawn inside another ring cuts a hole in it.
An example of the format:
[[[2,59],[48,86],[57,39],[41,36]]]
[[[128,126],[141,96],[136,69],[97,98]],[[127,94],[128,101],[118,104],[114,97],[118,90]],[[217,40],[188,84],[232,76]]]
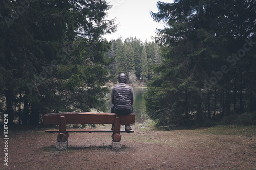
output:
[[[115,113],[66,112],[45,114],[42,117],[44,125],[58,125],[60,116],[65,116],[66,124],[113,124],[116,116],[119,116],[121,125],[135,123],[134,113],[117,115]]]

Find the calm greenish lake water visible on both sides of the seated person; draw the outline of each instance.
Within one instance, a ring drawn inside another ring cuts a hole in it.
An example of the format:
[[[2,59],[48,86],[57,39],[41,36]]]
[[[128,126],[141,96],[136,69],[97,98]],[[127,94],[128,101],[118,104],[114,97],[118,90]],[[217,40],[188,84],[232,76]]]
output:
[[[148,120],[148,116],[146,115],[146,107],[144,103],[144,99],[142,95],[145,93],[146,88],[144,87],[133,87],[134,91],[134,102],[133,102],[133,112],[135,113],[135,121],[136,123],[144,123],[146,120]],[[111,103],[111,93],[107,95],[108,97],[108,103],[107,107],[109,108],[108,112],[110,113],[110,108],[112,106]]]

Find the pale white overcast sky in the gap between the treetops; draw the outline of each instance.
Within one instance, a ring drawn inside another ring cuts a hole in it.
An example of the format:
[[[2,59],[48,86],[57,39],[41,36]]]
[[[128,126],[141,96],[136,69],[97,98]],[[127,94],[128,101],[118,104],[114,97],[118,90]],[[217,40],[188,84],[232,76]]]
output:
[[[163,24],[153,21],[150,11],[158,12],[157,0],[108,0],[112,8],[108,11],[108,19],[116,18],[119,23],[117,31],[113,34],[104,35],[111,40],[122,36],[123,40],[130,36],[145,42],[152,41],[156,28],[163,29]],[[171,2],[163,1],[163,2]]]

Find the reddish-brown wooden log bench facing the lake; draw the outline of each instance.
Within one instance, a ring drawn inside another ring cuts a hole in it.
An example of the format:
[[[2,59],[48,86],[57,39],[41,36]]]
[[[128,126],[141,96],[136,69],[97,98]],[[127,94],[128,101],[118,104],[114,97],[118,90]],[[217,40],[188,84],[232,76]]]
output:
[[[133,130],[120,130],[120,125],[133,124],[135,114],[117,115],[115,113],[91,113],[91,112],[65,112],[48,113],[43,117],[44,125],[59,125],[59,129],[46,130],[47,133],[58,132],[57,141],[65,142],[69,137],[68,132],[110,132],[115,142],[121,140],[121,132],[133,133]],[[67,124],[114,124],[114,130],[96,129],[66,129]]]

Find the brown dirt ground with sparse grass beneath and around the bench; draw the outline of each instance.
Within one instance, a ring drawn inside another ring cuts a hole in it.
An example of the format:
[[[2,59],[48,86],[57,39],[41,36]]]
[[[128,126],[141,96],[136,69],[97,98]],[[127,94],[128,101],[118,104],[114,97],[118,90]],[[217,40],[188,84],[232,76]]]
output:
[[[120,152],[111,150],[111,133],[70,133],[68,149],[56,151],[57,133],[12,130],[8,166],[0,144],[0,169],[256,169],[255,133],[134,130],[121,134]]]

